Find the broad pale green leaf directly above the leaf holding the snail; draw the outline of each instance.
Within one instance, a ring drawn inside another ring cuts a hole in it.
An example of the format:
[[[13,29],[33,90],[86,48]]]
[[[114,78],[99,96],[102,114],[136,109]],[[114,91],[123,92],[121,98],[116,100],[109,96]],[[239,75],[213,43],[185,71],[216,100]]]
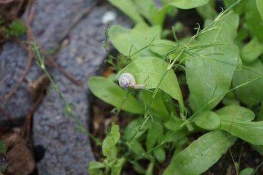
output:
[[[147,46],[161,37],[161,26],[149,27],[146,24],[137,24],[133,29],[114,25],[109,30],[109,38],[114,47],[123,55],[155,55]],[[143,49],[144,48],[144,49]],[[143,50],[141,50],[143,49]],[[132,58],[132,57],[131,57]]]

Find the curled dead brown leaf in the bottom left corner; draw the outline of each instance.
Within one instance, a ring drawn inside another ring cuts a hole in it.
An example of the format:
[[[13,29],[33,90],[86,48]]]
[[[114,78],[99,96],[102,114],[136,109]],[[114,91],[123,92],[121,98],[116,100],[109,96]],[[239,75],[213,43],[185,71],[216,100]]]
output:
[[[8,167],[7,175],[30,174],[35,169],[33,149],[30,149],[26,140],[19,133],[7,133],[0,138],[8,145]]]

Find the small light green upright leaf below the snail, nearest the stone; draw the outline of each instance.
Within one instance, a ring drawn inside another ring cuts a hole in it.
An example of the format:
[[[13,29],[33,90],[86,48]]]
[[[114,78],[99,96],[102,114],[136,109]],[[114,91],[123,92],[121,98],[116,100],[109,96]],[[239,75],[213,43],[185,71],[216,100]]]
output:
[[[113,125],[111,132],[107,134],[107,137],[102,142],[102,153],[104,156],[111,157],[111,151],[114,149],[116,143],[120,139],[119,126]]]

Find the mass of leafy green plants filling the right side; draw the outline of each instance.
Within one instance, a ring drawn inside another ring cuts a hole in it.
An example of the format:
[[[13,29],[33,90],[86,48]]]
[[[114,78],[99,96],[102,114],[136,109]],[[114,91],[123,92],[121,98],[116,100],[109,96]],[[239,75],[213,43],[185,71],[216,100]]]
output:
[[[127,59],[116,80],[128,89],[98,76],[89,78],[89,88],[134,119],[125,128],[114,122],[102,144],[105,159],[89,163],[90,174],[118,175],[129,164],[139,174],[156,174],[154,169],[166,165],[159,170],[164,175],[194,175],[206,172],[237,138],[262,150],[262,1],[225,0],[226,10],[219,14],[212,0],[161,1],[161,8],[152,0],[109,1],[136,23],[132,29],[109,30],[111,43]],[[174,41],[163,39],[165,14],[174,8],[197,8],[203,28],[198,25],[195,35],[181,40],[172,30]],[[260,24],[256,28],[252,18]],[[188,98],[179,70],[185,73]],[[120,80],[126,73],[134,79]],[[134,88],[134,80],[140,88]],[[190,141],[193,133],[201,136]],[[140,165],[142,160],[147,165]]]

